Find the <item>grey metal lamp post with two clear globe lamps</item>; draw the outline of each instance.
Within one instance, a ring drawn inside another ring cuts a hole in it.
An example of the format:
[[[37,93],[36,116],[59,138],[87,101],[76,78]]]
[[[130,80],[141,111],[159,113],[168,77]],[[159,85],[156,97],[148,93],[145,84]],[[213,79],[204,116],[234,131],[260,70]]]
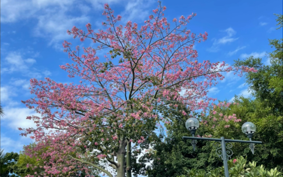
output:
[[[249,148],[251,149],[252,153],[254,153],[255,144],[262,144],[261,141],[251,140],[251,138],[253,137],[253,133],[255,133],[255,130],[256,130],[255,124],[251,122],[246,122],[242,125],[242,131],[243,133],[247,135],[247,137],[249,138],[249,141],[236,140],[236,139],[224,139],[224,137],[221,137],[220,139],[195,137],[195,132],[199,128],[199,120],[197,120],[196,118],[189,118],[186,121],[186,128],[191,132],[192,137],[183,136],[183,139],[192,139],[192,145],[193,145],[194,151],[195,151],[195,146],[197,144],[197,140],[215,141],[214,146],[216,147],[216,154],[218,155],[218,157],[221,157],[223,160],[225,177],[229,177],[227,160],[228,158],[231,158],[233,154],[233,151],[231,150],[232,142],[250,143]]]

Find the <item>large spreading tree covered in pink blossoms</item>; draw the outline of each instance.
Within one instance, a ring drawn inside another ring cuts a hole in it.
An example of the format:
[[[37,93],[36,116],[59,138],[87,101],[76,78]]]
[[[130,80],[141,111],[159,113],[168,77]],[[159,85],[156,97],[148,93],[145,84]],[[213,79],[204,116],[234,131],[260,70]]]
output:
[[[48,159],[45,171],[30,176],[71,176],[75,166],[87,172],[88,165],[110,177],[131,177],[131,155],[153,141],[154,130],[163,120],[158,110],[178,104],[192,113],[209,110],[215,99],[206,96],[207,89],[224,78],[223,72],[241,76],[253,71],[228,67],[225,62],[199,62],[193,46],[208,34],[196,35],[184,28],[195,13],[174,18],[171,24],[160,3],[138,29],[131,21],[118,25],[121,16],[115,17],[108,4],[104,8],[106,30],[94,32],[87,24],[87,31],[75,26],[67,31],[82,42],[91,39],[97,48],[83,48],[79,55],[79,46],[71,50],[71,43],[63,43],[75,64],[60,67],[70,78],[79,76],[80,85],[63,85],[49,78],[30,80],[36,97],[22,102],[42,116],[27,117],[34,120],[36,129],[19,129],[22,135],[33,134],[34,151],[50,147],[40,156]],[[96,55],[97,50],[106,51],[104,59]]]

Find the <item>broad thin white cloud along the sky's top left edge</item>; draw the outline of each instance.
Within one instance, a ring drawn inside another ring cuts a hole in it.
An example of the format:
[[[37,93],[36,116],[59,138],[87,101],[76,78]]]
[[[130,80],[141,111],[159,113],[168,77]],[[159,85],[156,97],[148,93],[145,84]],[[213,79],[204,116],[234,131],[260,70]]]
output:
[[[88,13],[93,13],[92,9],[102,13],[105,3],[109,3],[112,8],[114,4],[124,4],[125,10],[120,14],[122,22],[127,22],[133,19],[144,20],[149,15],[148,7],[153,2],[156,1],[86,0],[82,3],[79,0],[1,0],[1,23],[17,22],[28,18],[37,19],[32,35],[45,38],[49,46],[52,45],[55,49],[61,50],[63,40],[72,38],[67,34],[67,29],[70,30],[74,25],[78,28],[83,25],[84,28],[85,24],[91,20]],[[70,12],[74,10],[79,10],[81,15],[71,16]],[[97,20],[101,27],[102,20],[100,18]]]

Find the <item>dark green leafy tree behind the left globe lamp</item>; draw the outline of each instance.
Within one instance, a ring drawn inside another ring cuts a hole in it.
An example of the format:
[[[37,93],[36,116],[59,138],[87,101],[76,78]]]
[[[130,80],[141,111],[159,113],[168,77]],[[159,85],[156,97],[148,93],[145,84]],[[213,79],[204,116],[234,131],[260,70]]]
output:
[[[180,110],[183,110],[183,108],[184,106],[178,106]],[[189,112],[186,113],[189,114]],[[182,139],[183,136],[190,134],[184,124],[187,116],[170,110],[163,112],[163,116],[166,120],[164,127],[166,127],[167,136],[161,129],[159,141],[156,141],[153,148],[140,158],[140,163],[151,161],[151,165],[141,171],[142,175],[175,177],[182,174],[186,168],[210,169],[221,165],[219,160],[213,161],[209,157],[212,150],[210,146],[206,145],[206,141],[198,141],[194,152],[191,141]],[[205,124],[201,125],[197,134],[209,137],[208,130]]]

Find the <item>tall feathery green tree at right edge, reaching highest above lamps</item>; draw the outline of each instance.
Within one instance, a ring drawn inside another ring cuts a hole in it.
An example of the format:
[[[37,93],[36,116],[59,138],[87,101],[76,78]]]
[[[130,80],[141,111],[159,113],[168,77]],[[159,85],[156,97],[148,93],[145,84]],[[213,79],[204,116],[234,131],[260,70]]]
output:
[[[282,15],[276,15],[276,21],[283,23]],[[271,108],[270,113],[283,115],[283,39],[269,39],[269,45],[275,50],[268,54],[270,65],[264,65],[261,58],[253,56],[245,60],[235,60],[234,66],[248,66],[257,69],[255,73],[246,73],[246,82],[253,95]]]

